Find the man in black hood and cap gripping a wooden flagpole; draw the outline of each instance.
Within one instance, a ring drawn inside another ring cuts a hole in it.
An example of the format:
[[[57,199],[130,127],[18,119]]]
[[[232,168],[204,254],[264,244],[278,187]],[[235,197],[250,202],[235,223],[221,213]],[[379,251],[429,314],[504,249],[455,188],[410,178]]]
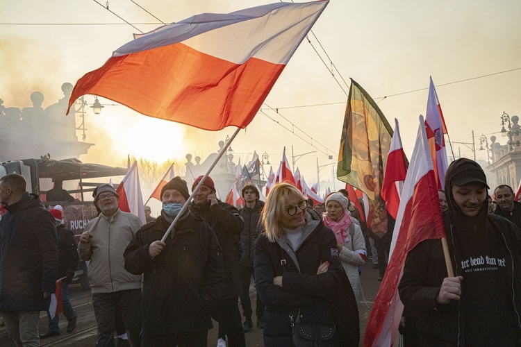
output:
[[[488,214],[486,176],[470,159],[449,165],[443,214],[456,277],[439,239],[408,253],[399,295],[411,346],[521,346],[518,228]]]

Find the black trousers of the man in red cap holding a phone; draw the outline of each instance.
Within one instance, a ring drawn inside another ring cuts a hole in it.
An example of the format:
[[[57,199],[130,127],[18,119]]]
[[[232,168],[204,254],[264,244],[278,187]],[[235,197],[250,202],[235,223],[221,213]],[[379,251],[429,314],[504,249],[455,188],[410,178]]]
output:
[[[245,347],[245,330],[242,329],[238,298],[224,298],[215,303],[212,318],[219,323],[220,334],[226,334],[229,347]],[[224,337],[224,336],[220,336]]]

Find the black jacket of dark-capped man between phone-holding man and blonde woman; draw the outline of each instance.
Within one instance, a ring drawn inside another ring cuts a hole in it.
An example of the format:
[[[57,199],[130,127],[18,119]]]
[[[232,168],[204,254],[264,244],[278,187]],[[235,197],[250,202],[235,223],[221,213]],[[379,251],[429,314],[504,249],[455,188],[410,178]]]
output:
[[[245,228],[240,233],[240,255],[239,263],[246,266],[254,266],[254,241],[257,238],[258,221],[264,208],[264,201],[257,200],[254,208],[241,208],[240,217],[245,221]]]

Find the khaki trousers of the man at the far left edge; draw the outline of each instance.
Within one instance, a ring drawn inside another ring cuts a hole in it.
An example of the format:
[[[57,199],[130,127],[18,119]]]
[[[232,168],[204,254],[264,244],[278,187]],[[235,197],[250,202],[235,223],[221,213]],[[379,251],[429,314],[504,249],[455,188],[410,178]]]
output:
[[[2,312],[3,322],[9,337],[17,347],[39,347],[38,319],[40,312],[12,311]]]

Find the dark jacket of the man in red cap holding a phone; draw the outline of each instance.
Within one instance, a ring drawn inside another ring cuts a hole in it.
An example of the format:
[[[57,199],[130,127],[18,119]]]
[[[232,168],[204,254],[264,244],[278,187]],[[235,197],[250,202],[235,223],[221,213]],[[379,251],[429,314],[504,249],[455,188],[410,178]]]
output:
[[[220,298],[235,298],[242,293],[239,280],[239,260],[237,256],[237,240],[244,223],[239,211],[232,205],[219,201],[212,207],[210,203],[204,205],[190,205],[190,211],[202,218],[215,232],[222,248],[224,265],[224,286]]]

